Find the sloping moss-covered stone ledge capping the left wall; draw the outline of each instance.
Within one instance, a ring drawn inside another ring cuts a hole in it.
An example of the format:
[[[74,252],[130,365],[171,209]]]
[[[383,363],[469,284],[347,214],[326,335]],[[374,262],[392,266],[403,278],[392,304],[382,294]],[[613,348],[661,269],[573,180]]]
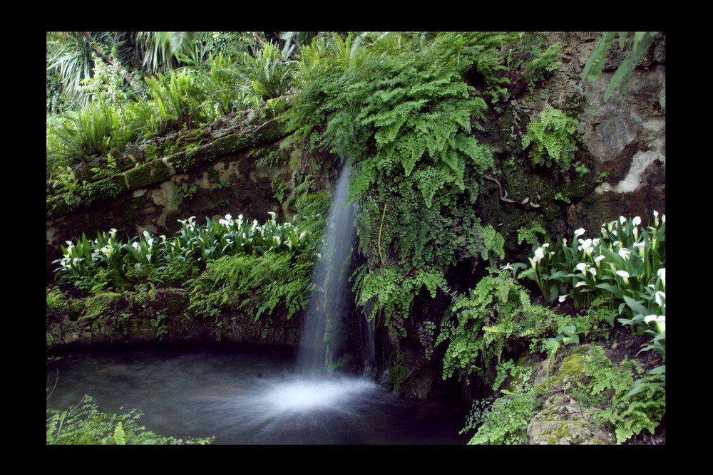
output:
[[[72,212],[80,206],[116,198],[126,191],[164,182],[175,174],[215,162],[231,153],[262,147],[286,135],[284,122],[273,118],[256,127],[223,135],[171,155],[156,157],[111,177],[85,183],[78,192],[47,197],[46,219]]]

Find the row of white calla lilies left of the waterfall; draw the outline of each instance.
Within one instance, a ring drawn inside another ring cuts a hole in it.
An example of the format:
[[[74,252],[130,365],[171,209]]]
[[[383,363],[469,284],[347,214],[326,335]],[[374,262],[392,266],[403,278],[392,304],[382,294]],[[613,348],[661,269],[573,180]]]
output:
[[[54,261],[59,264],[57,276],[94,293],[110,282],[124,283],[131,269],[142,267],[150,268],[158,281],[175,281],[221,256],[277,253],[311,261],[321,235],[321,229],[308,232],[289,222],[278,223],[272,212],[262,226],[257,219],[250,223],[242,215],[236,220],[230,214],[217,222],[207,219],[204,226],[196,225],[193,216],[179,222],[181,229],[169,238],[155,238],[145,230],[123,243],[116,229],[99,232],[96,239],[82,234],[76,242],[61,246],[63,256]]]

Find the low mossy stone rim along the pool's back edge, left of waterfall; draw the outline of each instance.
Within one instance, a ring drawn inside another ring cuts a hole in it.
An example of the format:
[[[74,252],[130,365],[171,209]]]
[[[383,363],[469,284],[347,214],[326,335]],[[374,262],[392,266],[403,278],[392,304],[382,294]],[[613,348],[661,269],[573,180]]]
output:
[[[133,343],[246,343],[294,348],[301,315],[275,315],[269,324],[225,311],[202,315],[190,310],[190,292],[157,288],[145,292],[103,292],[71,298],[57,291],[48,298],[46,350]]]

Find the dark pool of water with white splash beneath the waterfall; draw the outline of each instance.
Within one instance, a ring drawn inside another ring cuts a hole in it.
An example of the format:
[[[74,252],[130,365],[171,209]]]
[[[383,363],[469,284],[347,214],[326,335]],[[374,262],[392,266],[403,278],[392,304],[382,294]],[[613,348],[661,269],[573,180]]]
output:
[[[56,383],[56,386],[55,386]],[[101,412],[140,409],[163,436],[214,444],[465,444],[462,407],[405,400],[360,377],[309,378],[271,350],[132,348],[48,363],[47,407],[91,395]],[[48,391],[49,395],[49,391]],[[122,409],[123,408],[123,409]]]

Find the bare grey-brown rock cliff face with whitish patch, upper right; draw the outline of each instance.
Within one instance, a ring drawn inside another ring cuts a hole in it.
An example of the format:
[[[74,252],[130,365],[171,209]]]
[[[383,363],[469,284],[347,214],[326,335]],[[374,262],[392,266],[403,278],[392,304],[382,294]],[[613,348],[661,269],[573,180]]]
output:
[[[526,152],[508,147],[508,142],[519,144],[528,122],[550,105],[579,121],[581,140],[575,160],[588,173],[570,170],[560,174],[556,167],[548,171],[535,167],[528,173],[553,174],[547,183],[566,190],[566,196],[548,200],[546,187],[530,191],[530,195],[540,194],[544,202],[537,204],[550,219],[550,229],[564,236],[580,227],[598,234],[600,224],[622,215],[639,215],[650,224],[654,210],[665,212],[665,36],[657,38],[640,60],[628,82],[627,95],[615,93],[606,102],[605,91],[624,56],[618,46],[612,47],[600,78],[589,82],[581,75],[599,33],[545,36],[548,43],[560,43],[563,63],[541,88],[511,101],[502,116],[511,119],[503,144],[507,152]],[[508,182],[508,188],[518,189],[516,180]],[[548,201],[557,209],[548,209]]]

